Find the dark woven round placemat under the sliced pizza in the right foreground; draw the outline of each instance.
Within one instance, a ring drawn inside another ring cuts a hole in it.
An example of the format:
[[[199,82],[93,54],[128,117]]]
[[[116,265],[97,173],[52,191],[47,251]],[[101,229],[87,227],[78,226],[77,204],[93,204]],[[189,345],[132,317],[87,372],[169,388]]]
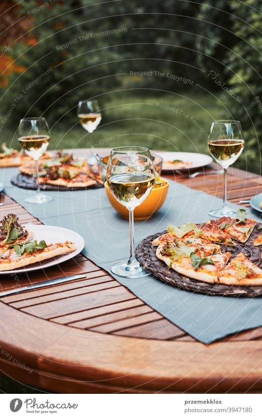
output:
[[[249,237],[248,241],[244,244],[237,243],[234,247],[221,245],[222,253],[230,252],[232,257],[235,257],[239,253],[244,255],[258,267],[262,268],[261,259],[261,246],[254,247],[253,241],[256,239],[262,231],[259,228],[262,224],[257,224]],[[193,292],[205,293],[209,295],[224,295],[224,296],[245,296],[254,297],[262,295],[262,286],[226,286],[220,284],[209,284],[200,282],[195,279],[189,279],[176,273],[175,270],[169,268],[164,261],[159,260],[155,253],[156,248],[152,246],[152,241],[158,236],[166,233],[167,231],[157,233],[155,235],[145,238],[136,248],[136,256],[143,265],[143,267],[150,271],[155,277],[159,278],[163,282],[170,283],[171,285],[182,290],[189,290]]]

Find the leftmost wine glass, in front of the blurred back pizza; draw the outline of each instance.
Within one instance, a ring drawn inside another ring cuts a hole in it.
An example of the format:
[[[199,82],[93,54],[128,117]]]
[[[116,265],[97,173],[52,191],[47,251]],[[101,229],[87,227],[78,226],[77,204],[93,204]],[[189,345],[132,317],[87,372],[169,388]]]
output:
[[[21,119],[18,128],[18,141],[26,155],[35,161],[36,171],[36,193],[27,197],[27,203],[46,203],[54,198],[40,191],[38,160],[46,152],[50,141],[49,127],[45,118],[24,118]]]

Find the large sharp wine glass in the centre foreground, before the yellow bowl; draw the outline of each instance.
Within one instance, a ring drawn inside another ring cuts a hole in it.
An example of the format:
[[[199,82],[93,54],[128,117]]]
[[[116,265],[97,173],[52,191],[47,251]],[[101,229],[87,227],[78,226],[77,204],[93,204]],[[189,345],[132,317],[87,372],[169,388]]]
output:
[[[149,273],[135,257],[134,209],[144,202],[155,181],[154,165],[148,148],[113,148],[106,177],[111,192],[129,211],[130,257],[128,261],[113,265],[111,271],[126,278],[146,276]]]

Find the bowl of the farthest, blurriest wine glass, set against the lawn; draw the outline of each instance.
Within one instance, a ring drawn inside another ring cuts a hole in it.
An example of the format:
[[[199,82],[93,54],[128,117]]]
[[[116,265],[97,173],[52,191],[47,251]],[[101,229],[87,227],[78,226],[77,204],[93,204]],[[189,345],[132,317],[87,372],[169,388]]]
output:
[[[92,133],[100,124],[102,115],[97,100],[80,100],[77,116],[87,132]]]

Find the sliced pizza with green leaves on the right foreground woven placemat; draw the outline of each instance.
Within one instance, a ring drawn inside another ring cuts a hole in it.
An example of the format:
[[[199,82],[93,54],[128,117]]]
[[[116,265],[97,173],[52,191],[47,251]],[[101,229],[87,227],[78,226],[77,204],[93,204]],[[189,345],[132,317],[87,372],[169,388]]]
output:
[[[262,286],[261,268],[243,253],[232,258],[230,252],[223,252],[223,245],[245,243],[255,226],[256,221],[239,209],[235,218],[222,217],[201,225],[168,225],[168,232],[154,239],[152,245],[157,246],[157,258],[185,277],[228,286]],[[262,234],[253,244],[262,244]]]

